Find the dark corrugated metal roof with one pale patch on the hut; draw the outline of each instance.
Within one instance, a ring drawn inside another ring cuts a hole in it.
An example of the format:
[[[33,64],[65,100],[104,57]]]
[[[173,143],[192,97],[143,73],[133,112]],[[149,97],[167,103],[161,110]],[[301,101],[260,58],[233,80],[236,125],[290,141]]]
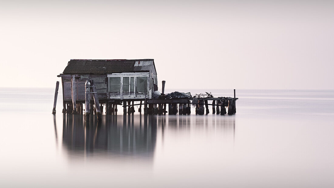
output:
[[[156,73],[154,59],[71,59],[64,74],[111,74],[117,72]]]

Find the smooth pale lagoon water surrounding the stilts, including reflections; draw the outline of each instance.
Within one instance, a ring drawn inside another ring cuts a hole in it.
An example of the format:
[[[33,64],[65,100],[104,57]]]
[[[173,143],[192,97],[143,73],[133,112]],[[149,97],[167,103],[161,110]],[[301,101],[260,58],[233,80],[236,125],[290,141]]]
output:
[[[236,90],[232,116],[135,108],[88,126],[61,92],[53,116],[53,96],[0,88],[0,187],[334,187],[334,90]]]

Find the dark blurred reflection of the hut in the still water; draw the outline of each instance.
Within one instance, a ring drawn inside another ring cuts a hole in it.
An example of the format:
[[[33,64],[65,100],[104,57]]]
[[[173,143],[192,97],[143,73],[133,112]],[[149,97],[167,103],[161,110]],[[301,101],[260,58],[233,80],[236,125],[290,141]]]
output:
[[[82,115],[64,115],[63,148],[74,155],[153,158],[157,126],[152,122],[156,117],[149,121],[124,117],[108,116],[107,121],[85,126]]]

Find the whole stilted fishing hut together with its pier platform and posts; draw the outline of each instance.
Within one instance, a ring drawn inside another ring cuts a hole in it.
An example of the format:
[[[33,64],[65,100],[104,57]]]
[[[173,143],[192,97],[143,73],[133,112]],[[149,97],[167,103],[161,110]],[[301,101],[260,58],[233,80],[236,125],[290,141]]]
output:
[[[164,95],[165,81],[162,81],[160,95],[154,59],[71,59],[58,77],[61,77],[62,83],[63,113],[83,114],[85,104],[86,118],[91,114],[91,109],[92,112],[94,109],[98,120],[101,119],[104,106],[107,115],[117,114],[118,105],[123,105],[124,114],[134,113],[135,105],[140,105],[139,112],[144,105],[144,114],[165,114],[167,104],[169,114],[190,114],[191,105],[196,107],[195,112],[199,115],[203,115],[204,110],[208,114],[208,106],[212,106],[213,114],[236,113],[235,101],[238,98],[235,98],[235,89],[233,98],[214,98],[207,93],[207,96],[189,95],[186,98],[172,99],[166,98],[172,93]],[[57,81],[53,114],[58,86]],[[212,101],[212,104],[209,104],[209,101]]]

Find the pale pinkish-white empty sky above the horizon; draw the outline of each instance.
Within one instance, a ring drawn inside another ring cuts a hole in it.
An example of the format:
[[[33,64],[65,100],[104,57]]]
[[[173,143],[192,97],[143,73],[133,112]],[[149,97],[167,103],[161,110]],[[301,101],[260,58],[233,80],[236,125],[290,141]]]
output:
[[[168,88],[334,89],[333,1],[1,1],[0,27],[0,87],[152,58]]]

